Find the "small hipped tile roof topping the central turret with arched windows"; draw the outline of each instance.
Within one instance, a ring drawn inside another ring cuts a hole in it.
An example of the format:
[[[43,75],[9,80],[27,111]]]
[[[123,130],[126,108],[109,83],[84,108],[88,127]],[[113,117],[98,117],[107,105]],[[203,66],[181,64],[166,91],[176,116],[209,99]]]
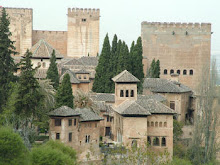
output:
[[[114,82],[140,82],[134,75],[132,75],[127,70],[124,70],[123,72],[119,73],[117,76],[112,78]]]

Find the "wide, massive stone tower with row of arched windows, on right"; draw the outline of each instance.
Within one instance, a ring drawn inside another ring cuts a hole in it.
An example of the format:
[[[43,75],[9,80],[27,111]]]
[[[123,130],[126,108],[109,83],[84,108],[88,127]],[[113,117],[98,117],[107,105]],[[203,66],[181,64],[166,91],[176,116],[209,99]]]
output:
[[[211,24],[142,22],[141,28],[145,73],[159,59],[161,78],[177,73],[181,83],[195,90],[203,66],[210,65]]]

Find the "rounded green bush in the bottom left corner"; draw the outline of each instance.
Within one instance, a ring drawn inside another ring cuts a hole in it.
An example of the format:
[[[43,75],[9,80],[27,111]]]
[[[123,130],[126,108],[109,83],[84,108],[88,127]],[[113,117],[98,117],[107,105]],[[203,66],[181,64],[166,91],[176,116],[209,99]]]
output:
[[[11,128],[0,127],[0,164],[27,164],[28,151],[19,134]]]

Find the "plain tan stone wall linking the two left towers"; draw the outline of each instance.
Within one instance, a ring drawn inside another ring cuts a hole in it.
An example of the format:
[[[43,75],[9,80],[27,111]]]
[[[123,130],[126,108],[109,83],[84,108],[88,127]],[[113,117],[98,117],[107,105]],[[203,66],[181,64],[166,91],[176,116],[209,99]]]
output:
[[[52,47],[62,55],[67,55],[67,32],[66,31],[41,31],[33,30],[33,45],[40,39],[47,41]]]

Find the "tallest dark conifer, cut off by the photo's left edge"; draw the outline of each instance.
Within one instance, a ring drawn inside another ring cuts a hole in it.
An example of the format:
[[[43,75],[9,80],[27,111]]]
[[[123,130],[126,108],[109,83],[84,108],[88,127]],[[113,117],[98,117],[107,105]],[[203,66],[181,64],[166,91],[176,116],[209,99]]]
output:
[[[5,106],[8,93],[10,90],[10,82],[15,80],[13,73],[16,71],[16,65],[11,55],[15,55],[15,47],[11,41],[11,32],[9,31],[9,18],[5,11],[2,9],[0,17],[0,112]]]

